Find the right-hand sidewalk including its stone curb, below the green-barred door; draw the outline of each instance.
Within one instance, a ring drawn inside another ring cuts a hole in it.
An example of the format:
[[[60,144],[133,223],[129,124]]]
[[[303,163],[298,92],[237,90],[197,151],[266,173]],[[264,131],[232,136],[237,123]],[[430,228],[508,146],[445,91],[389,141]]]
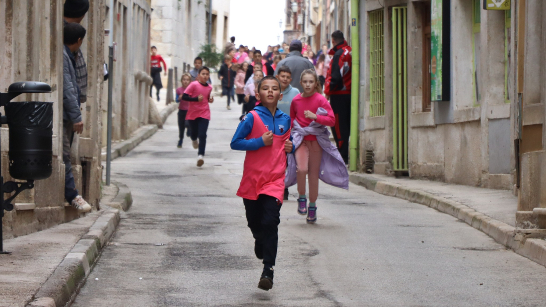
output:
[[[511,191],[354,172],[349,177],[368,190],[452,215],[519,255],[546,266],[546,230],[515,227],[518,198]]]

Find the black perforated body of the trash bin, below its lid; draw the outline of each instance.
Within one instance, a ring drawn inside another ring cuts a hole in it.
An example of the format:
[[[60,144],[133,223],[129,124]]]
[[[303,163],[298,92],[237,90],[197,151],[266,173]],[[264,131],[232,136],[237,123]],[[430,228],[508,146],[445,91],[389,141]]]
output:
[[[11,102],[5,105],[9,127],[9,174],[14,179],[51,176],[53,103]]]

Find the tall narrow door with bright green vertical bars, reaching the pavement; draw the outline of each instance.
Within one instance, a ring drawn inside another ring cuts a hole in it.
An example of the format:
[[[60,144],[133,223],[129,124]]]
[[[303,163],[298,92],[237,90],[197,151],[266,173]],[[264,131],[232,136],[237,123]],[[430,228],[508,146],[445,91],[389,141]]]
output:
[[[408,170],[407,7],[393,8],[393,168]]]

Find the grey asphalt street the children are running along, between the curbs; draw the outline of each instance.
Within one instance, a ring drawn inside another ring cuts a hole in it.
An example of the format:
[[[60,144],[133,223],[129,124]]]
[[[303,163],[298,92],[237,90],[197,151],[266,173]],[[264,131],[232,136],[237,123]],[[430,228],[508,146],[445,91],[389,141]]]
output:
[[[281,210],[274,287],[257,288],[242,200],[239,105],[212,107],[203,168],[165,129],[112,162],[134,203],[72,306],[543,306],[546,268],[423,205],[321,182],[318,222]]]

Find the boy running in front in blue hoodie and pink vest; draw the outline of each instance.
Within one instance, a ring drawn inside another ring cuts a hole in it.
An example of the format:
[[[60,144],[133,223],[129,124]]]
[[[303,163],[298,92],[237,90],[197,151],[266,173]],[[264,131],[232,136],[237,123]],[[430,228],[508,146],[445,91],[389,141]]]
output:
[[[286,155],[293,152],[293,146],[290,116],[277,109],[282,94],[281,84],[274,76],[260,80],[256,99],[262,103],[239,123],[231,147],[246,151],[237,195],[245,204],[248,227],[254,237],[254,253],[263,259],[258,288],[268,291],[273,287],[277,257]]]

